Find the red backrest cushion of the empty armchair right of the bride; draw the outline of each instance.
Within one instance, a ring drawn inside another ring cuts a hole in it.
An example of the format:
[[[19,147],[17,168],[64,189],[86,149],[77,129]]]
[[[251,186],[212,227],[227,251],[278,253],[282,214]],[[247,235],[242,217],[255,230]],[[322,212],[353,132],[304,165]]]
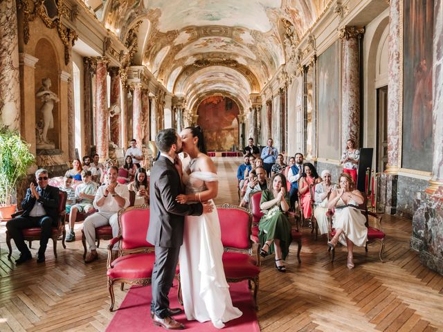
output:
[[[249,214],[235,208],[217,208],[220,221],[221,243],[224,247],[251,248]]]

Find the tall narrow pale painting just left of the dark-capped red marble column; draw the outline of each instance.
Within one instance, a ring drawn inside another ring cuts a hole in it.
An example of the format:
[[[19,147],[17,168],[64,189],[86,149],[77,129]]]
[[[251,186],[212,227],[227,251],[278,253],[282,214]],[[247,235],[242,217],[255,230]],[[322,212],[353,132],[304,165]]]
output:
[[[340,159],[340,41],[318,56],[318,156]]]

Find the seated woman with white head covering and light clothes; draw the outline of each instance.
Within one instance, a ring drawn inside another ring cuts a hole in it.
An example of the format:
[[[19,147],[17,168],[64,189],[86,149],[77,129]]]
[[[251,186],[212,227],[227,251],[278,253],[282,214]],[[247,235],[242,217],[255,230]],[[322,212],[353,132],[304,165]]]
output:
[[[327,212],[327,201],[333,190],[337,189],[335,183],[331,183],[331,172],[325,169],[321,172],[321,178],[323,181],[316,185],[315,189],[315,199],[314,199],[314,216],[317,220],[318,230],[320,234],[326,234],[329,231],[326,212]]]

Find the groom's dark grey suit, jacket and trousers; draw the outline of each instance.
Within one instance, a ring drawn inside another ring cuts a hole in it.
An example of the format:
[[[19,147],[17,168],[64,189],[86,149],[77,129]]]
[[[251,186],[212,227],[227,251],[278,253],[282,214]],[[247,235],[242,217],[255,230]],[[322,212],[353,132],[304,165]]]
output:
[[[183,243],[184,216],[203,213],[201,203],[177,203],[179,194],[184,194],[179,172],[171,160],[160,156],[151,169],[150,227],[146,237],[155,246],[151,311],[159,318],[169,316],[168,294]]]

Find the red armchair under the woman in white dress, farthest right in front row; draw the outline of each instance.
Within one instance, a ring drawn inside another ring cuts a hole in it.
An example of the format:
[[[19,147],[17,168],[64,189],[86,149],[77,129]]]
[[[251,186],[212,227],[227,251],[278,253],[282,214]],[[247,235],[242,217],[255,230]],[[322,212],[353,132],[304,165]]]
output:
[[[381,258],[383,255],[383,251],[385,249],[385,237],[386,234],[383,232],[383,229],[381,228],[381,216],[377,213],[368,211],[368,197],[363,194],[363,203],[359,205],[359,210],[365,216],[366,218],[366,227],[368,228],[368,241],[366,242],[365,246],[365,252],[368,252],[368,245],[371,245],[372,243],[380,243],[380,251],[379,251],[379,258],[382,262],[383,259]],[[330,225],[330,231],[327,235],[327,241],[332,239],[335,235],[335,229],[332,228],[332,216],[334,216],[335,210],[329,210],[327,212],[327,216],[329,219],[329,225]],[[371,227],[369,225],[369,216],[372,216],[374,218],[375,227]],[[327,251],[331,251],[331,247]],[[332,248],[332,260],[334,261],[335,258],[335,248]]]

